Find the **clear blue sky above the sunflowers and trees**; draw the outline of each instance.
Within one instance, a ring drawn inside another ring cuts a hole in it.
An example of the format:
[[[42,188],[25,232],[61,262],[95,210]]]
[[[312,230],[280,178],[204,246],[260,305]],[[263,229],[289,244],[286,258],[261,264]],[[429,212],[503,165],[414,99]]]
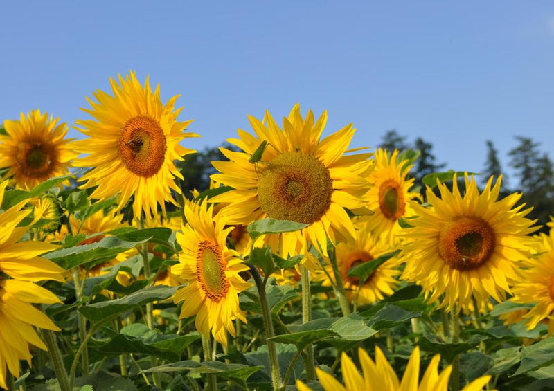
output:
[[[397,129],[456,170],[479,172],[487,139],[504,165],[517,134],[554,149],[553,1],[10,1],[1,14],[0,119],[39,108],[72,124],[132,69],[163,100],[181,94],[196,149],[296,102],[329,111],[325,134],[353,122],[355,147]]]

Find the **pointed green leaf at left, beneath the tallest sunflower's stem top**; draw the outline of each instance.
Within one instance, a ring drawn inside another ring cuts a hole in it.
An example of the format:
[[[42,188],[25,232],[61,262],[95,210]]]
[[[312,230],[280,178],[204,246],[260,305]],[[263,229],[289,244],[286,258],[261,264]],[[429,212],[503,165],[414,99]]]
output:
[[[83,244],[82,246],[74,246],[70,248],[62,248],[43,255],[48,260],[51,260],[64,269],[73,269],[75,266],[87,264],[88,262],[111,260],[119,253],[129,250],[138,244],[147,242],[126,242],[115,236],[105,237],[100,242]]]

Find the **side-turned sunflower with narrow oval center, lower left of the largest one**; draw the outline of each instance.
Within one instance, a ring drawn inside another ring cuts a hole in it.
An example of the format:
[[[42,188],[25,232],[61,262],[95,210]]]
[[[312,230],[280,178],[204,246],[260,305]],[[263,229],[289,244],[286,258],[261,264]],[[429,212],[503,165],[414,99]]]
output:
[[[227,235],[233,228],[224,228],[226,219],[213,216],[213,206],[186,202],[187,224],[177,233],[183,249],[179,264],[171,272],[188,281],[179,289],[174,302],[183,302],[181,318],[196,315],[196,328],[208,336],[210,330],[219,343],[227,345],[226,332],[235,336],[233,319],[247,322],[238,305],[238,293],[251,286],[239,275],[249,270],[234,250],[226,246]]]

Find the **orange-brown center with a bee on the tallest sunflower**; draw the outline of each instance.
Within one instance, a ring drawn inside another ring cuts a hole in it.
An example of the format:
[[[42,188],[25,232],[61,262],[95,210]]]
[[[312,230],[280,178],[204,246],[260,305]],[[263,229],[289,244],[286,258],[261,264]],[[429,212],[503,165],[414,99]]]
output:
[[[148,178],[166,158],[166,136],[157,120],[136,116],[127,121],[118,140],[118,153],[129,171]]]

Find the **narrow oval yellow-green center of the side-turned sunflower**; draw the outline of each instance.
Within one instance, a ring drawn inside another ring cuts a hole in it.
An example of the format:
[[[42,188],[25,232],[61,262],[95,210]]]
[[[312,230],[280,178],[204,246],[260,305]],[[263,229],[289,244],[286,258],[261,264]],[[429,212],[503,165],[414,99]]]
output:
[[[219,302],[229,290],[220,248],[206,241],[200,242],[196,265],[196,278],[200,288],[210,300]]]

